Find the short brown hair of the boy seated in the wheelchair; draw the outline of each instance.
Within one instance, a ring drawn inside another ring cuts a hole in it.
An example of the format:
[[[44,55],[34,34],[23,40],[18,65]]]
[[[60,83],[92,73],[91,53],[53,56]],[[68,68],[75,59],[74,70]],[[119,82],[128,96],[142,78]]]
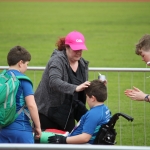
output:
[[[90,98],[95,96],[98,102],[104,102],[107,99],[107,87],[98,79],[91,81],[90,86],[85,89],[85,93]]]

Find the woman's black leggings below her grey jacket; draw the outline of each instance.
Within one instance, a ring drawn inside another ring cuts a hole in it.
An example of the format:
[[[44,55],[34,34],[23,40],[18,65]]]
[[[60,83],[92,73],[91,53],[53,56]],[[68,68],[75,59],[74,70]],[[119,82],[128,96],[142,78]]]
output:
[[[58,124],[56,124],[55,122],[53,122],[52,120],[50,120],[48,117],[46,117],[45,115],[43,115],[41,113],[39,113],[39,117],[40,117],[40,123],[41,123],[42,130],[58,129],[58,130],[65,130],[65,131],[71,132],[75,126],[74,115],[70,115],[65,129],[62,129]]]

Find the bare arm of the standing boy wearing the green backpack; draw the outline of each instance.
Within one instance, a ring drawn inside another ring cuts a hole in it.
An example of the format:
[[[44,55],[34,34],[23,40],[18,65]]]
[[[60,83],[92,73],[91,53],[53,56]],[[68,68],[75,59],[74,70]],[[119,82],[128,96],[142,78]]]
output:
[[[26,105],[29,109],[31,118],[35,125],[35,135],[37,138],[41,136],[41,126],[40,126],[40,120],[38,115],[38,109],[37,105],[35,103],[35,99],[33,95],[29,95],[25,97]]]

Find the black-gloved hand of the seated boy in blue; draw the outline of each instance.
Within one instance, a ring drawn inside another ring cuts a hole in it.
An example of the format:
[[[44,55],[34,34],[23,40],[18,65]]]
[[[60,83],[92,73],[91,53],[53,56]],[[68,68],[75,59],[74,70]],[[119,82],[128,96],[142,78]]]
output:
[[[54,136],[49,136],[48,137],[48,143],[53,143],[53,144],[67,144],[65,136],[56,135],[56,134]]]

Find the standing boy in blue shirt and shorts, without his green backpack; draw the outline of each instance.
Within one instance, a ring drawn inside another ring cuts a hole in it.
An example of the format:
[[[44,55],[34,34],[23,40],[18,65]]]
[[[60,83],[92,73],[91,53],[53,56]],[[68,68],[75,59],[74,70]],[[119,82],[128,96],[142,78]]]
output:
[[[13,72],[15,76],[25,76],[24,73],[30,60],[31,55],[25,48],[21,46],[13,47],[7,55],[9,65],[7,73],[11,75],[10,72]],[[13,123],[0,129],[0,143],[34,143],[33,132],[35,132],[37,138],[40,138],[41,126],[32,84],[28,80],[20,79],[16,94],[16,112],[25,104],[24,109],[30,113],[35,126],[34,131],[30,118],[22,111]]]

